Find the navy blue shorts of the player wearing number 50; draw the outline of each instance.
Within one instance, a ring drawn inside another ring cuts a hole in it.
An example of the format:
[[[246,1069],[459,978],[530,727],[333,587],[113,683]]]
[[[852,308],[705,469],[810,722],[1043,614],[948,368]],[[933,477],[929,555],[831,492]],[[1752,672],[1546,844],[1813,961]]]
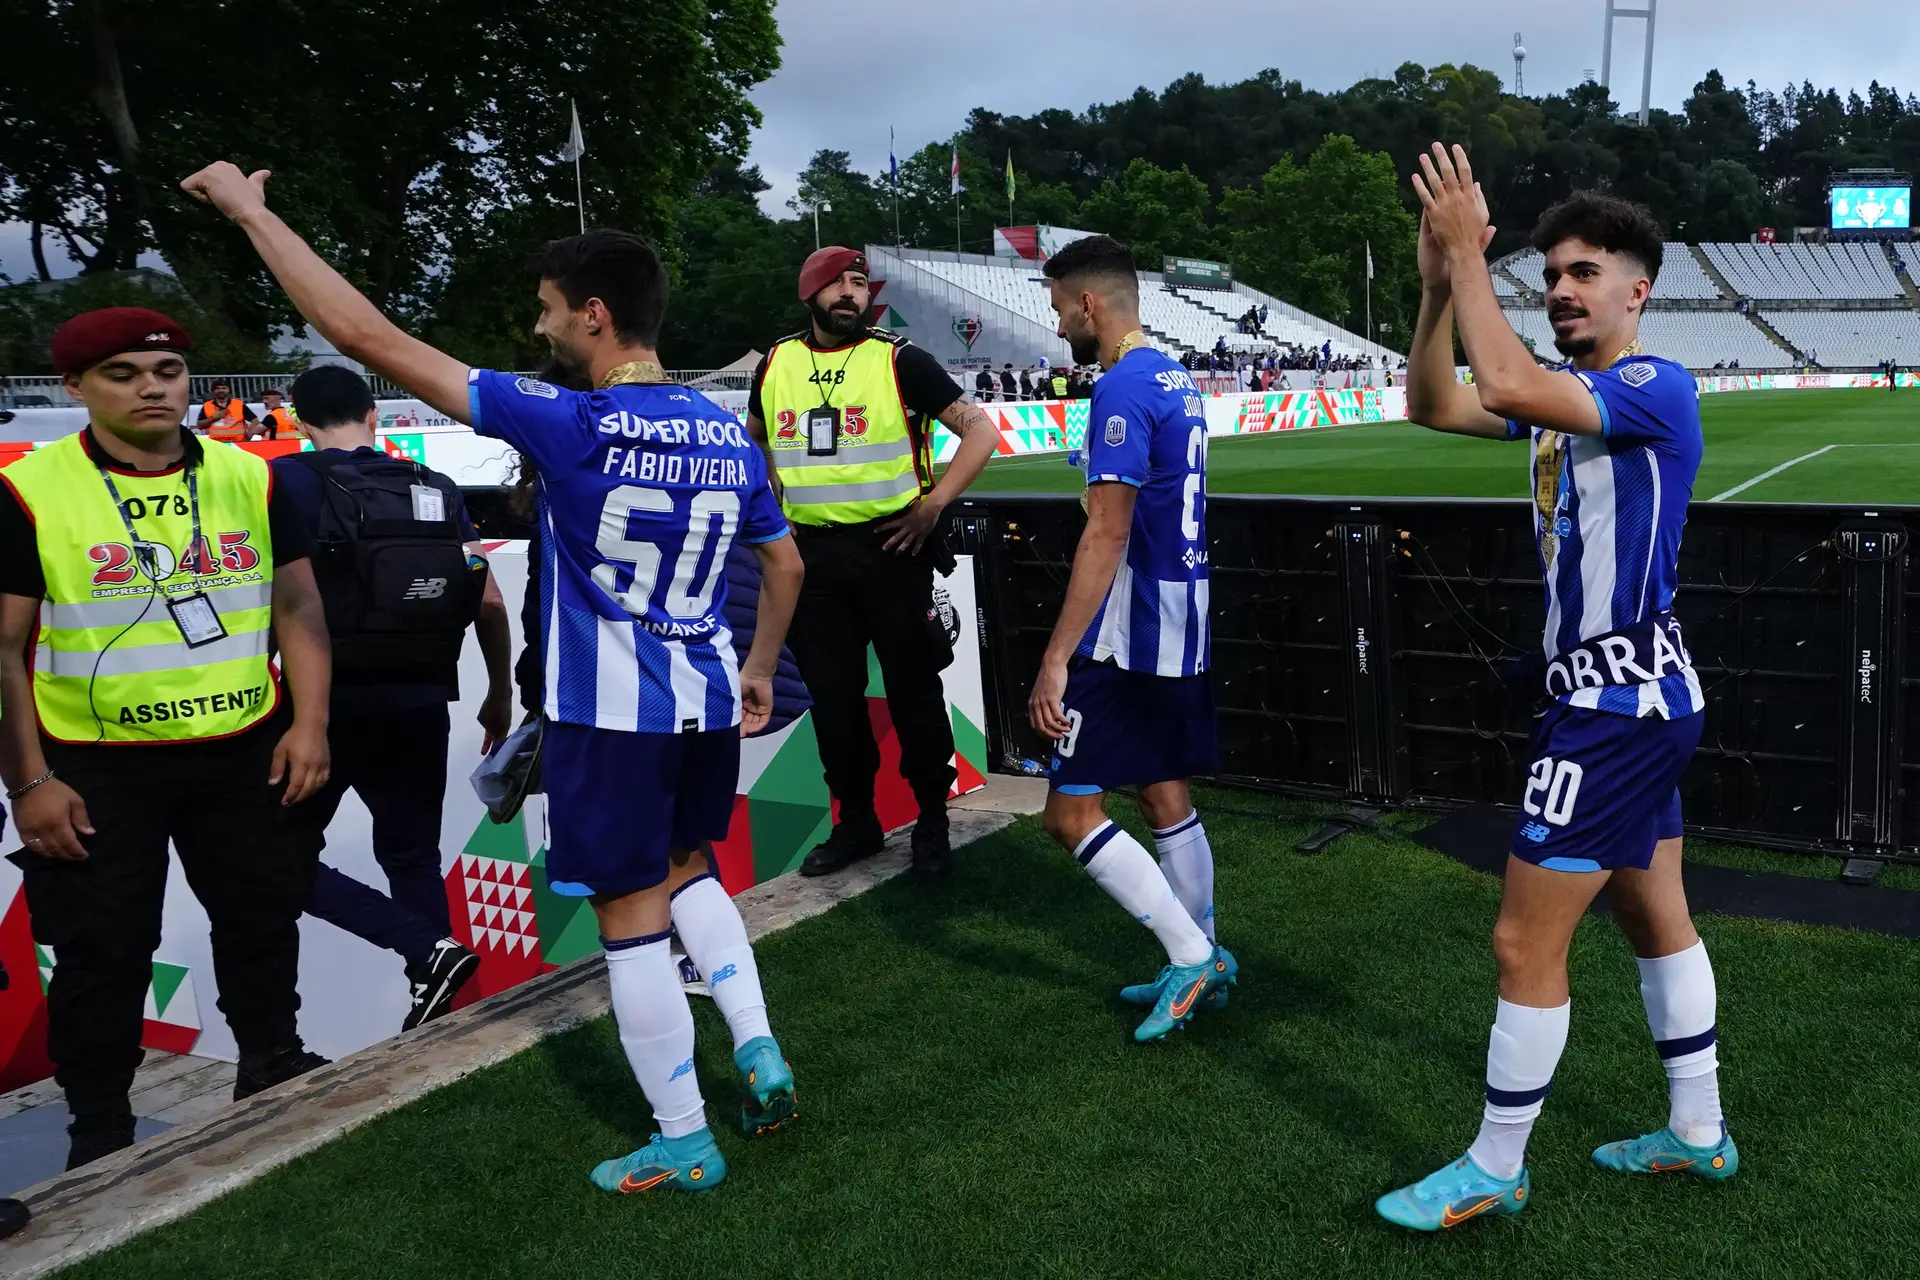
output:
[[[739,785],[739,729],[624,733],[549,720],[547,883],[618,898],[666,879],[668,852],[724,841]]]

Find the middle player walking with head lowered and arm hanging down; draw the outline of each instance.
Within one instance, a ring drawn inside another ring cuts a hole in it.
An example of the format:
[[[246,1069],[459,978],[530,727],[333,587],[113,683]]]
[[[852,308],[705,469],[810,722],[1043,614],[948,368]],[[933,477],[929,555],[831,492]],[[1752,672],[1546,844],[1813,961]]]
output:
[[[1223,1007],[1238,965],[1213,942],[1213,852],[1187,779],[1219,760],[1206,664],[1206,418],[1179,361],[1140,332],[1133,251],[1087,236],[1054,253],[1060,336],[1100,363],[1087,426],[1087,530],[1027,718],[1056,741],[1046,831],[1154,931],[1167,965],[1121,998],[1150,1006],[1135,1040]],[[1160,864],[1104,812],[1140,787]]]

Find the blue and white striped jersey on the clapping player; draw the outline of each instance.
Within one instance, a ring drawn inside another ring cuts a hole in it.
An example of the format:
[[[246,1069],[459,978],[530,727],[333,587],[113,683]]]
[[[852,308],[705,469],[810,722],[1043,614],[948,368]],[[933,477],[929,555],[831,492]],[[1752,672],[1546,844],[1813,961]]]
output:
[[[1647,355],[1574,376],[1599,407],[1599,436],[1507,424],[1511,439],[1532,441],[1548,691],[1571,706],[1678,720],[1707,704],[1670,616],[1703,451],[1693,376]]]

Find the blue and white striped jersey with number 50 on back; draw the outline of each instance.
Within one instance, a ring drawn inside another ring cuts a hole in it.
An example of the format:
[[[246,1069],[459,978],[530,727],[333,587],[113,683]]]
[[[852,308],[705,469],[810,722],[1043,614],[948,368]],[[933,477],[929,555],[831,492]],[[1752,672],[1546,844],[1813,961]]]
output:
[[[739,723],[726,555],[785,537],[766,459],[682,386],[566,391],[476,368],[474,432],[540,476],[540,633],[551,720],[628,733]]]

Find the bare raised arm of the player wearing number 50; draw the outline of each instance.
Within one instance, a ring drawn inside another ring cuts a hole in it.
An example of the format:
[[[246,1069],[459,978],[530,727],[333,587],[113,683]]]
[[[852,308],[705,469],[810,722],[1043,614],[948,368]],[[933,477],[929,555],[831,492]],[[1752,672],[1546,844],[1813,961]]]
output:
[[[267,169],[250,177],[221,159],[180,182],[180,188],[194,200],[211,203],[248,234],[300,315],[342,355],[397,382],[455,422],[467,422],[467,365],[388,320],[346,276],[328,267],[267,207]]]

